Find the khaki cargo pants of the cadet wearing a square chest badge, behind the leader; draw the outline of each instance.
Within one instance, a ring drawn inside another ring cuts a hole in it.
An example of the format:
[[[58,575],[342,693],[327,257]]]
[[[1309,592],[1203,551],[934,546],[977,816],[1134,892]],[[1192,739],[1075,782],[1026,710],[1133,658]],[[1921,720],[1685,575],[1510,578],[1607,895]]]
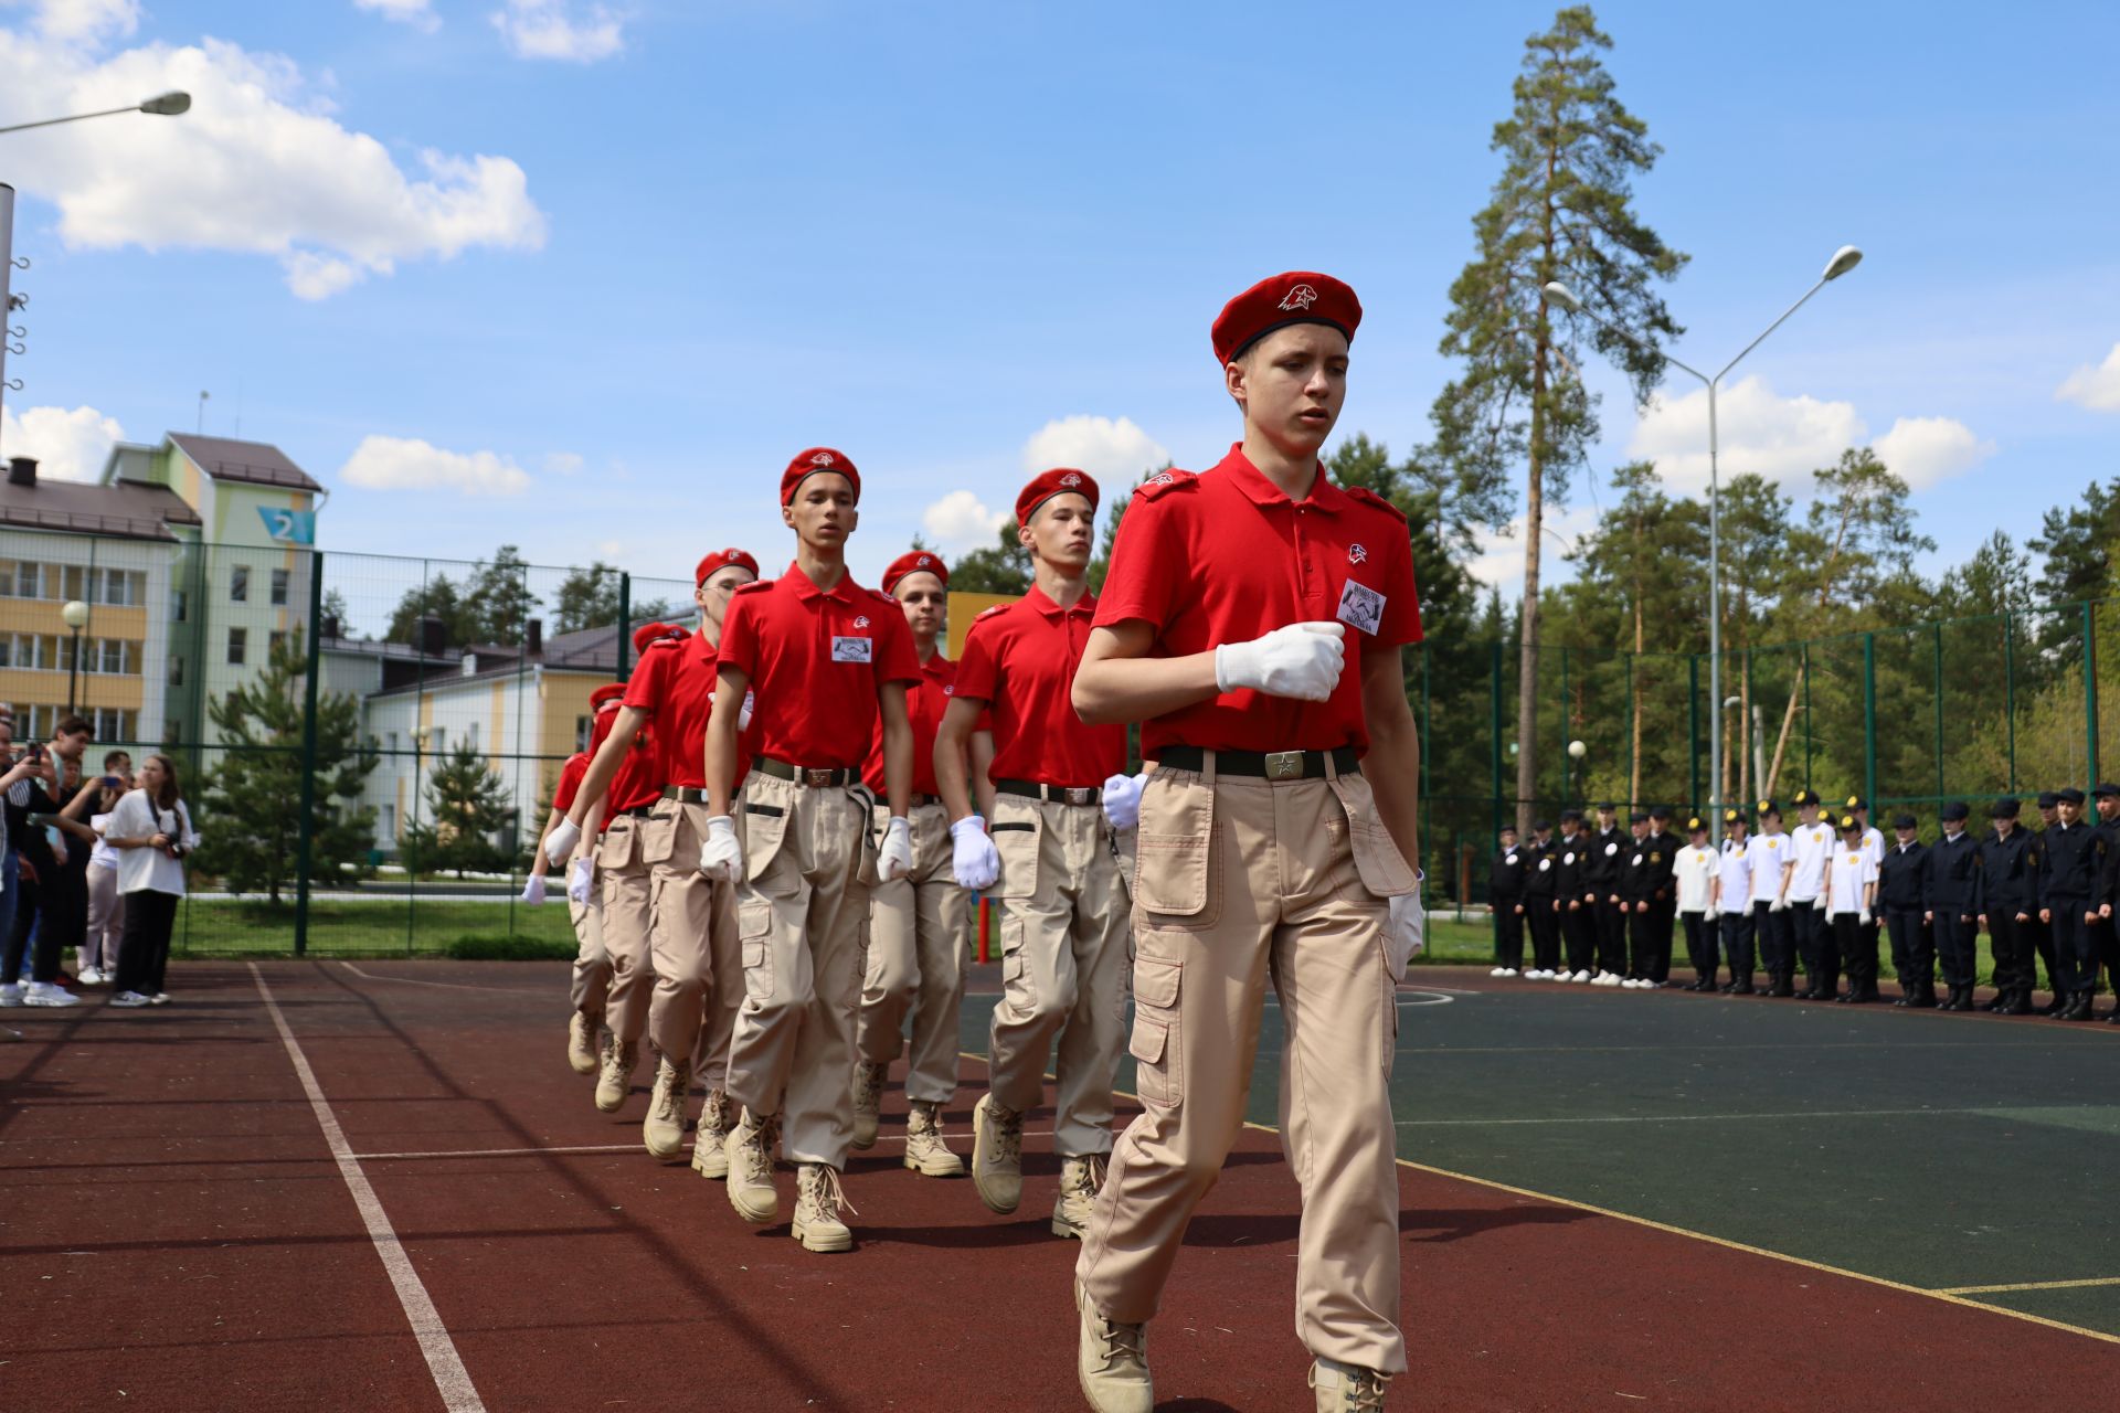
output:
[[[780,1114],[793,1163],[846,1167],[854,1135],[854,1013],[876,883],[873,801],[861,786],[744,784],[744,881],[736,890],[744,1004],[729,1093]]]

